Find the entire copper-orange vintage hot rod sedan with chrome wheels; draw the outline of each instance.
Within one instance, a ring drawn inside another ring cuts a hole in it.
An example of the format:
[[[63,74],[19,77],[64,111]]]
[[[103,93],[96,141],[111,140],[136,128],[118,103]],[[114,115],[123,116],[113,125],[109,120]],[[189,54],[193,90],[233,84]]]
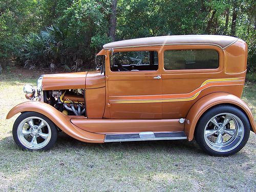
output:
[[[243,91],[247,45],[236,37],[177,35],[105,44],[101,70],[42,75],[13,138],[26,150],[48,150],[63,131],[84,142],[195,137],[210,155],[239,152],[255,125]]]

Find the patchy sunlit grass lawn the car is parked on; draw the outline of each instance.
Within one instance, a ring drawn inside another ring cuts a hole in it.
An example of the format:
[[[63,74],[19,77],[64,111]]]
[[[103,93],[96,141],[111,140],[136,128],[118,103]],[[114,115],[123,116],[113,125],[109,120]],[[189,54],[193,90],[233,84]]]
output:
[[[195,141],[92,144],[63,133],[50,151],[19,150],[11,135],[17,115],[5,118],[26,101],[24,84],[35,85],[28,76],[0,75],[0,191],[256,191],[254,133],[230,157],[208,156]],[[255,97],[255,83],[246,82],[242,98],[254,117]]]

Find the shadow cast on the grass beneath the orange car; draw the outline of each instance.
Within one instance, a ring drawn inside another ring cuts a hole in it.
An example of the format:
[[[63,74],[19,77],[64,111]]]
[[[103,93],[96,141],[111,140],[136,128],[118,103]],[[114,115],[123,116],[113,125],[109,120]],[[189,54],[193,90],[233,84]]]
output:
[[[5,150],[20,150],[15,144],[11,136],[5,137],[0,140],[0,147]],[[54,147],[50,150],[51,153],[57,154],[67,151],[73,151],[78,155],[96,155],[108,154],[108,153],[130,153],[137,154],[169,154],[172,156],[184,156],[189,161],[189,157],[197,158],[233,158],[239,157],[239,159],[249,159],[246,153],[240,152],[229,157],[212,157],[204,153],[195,140],[159,140],[159,141],[131,141],[131,142],[113,142],[113,143],[86,143],[76,140],[67,134],[58,133],[57,141]],[[89,152],[89,153],[88,153]],[[30,152],[28,152],[30,153]],[[44,152],[43,152],[44,153]]]

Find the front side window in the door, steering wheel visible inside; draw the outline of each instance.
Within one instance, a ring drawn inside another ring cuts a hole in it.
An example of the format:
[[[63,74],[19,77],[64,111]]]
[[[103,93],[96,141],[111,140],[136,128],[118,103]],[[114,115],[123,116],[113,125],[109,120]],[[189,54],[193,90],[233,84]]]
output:
[[[158,70],[158,54],[156,51],[114,52],[110,58],[113,72],[156,71]]]

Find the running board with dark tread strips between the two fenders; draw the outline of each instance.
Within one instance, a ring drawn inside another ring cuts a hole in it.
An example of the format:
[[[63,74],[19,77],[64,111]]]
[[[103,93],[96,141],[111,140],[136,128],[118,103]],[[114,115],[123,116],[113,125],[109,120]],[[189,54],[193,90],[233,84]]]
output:
[[[184,132],[140,132],[133,134],[106,134],[104,142],[152,141],[187,139]]]

